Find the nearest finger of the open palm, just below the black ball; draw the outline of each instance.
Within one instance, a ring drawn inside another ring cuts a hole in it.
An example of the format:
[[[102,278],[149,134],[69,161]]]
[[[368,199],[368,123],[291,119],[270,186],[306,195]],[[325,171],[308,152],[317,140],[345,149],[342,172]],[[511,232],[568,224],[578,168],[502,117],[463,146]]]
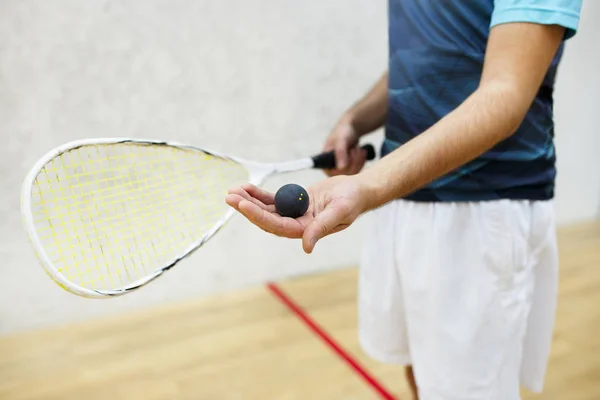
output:
[[[238,209],[248,221],[274,235],[297,239],[302,237],[304,232],[302,225],[293,218],[285,218],[270,213],[250,201],[240,201]]]

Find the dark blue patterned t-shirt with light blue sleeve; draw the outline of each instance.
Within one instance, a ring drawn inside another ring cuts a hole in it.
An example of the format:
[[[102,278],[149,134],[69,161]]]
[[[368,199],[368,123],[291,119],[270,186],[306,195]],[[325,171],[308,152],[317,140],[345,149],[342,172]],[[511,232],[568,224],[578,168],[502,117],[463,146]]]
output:
[[[558,24],[572,37],[582,0],[389,0],[388,116],[382,155],[427,130],[478,86],[490,28]],[[527,38],[523,38],[527,40]],[[545,200],[554,196],[552,91],[563,45],[510,138],[406,199]]]

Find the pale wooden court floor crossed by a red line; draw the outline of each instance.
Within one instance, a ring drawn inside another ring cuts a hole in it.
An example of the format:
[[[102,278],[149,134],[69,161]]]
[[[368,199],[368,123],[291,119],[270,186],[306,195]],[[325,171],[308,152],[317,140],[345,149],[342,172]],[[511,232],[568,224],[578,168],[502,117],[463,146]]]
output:
[[[523,398],[600,399],[600,222],[564,228],[559,238],[546,388]],[[310,320],[259,287],[2,337],[0,400],[386,398],[381,391],[409,399],[401,368],[360,350],[356,278],[347,269],[280,283]],[[334,342],[315,334],[310,321]]]

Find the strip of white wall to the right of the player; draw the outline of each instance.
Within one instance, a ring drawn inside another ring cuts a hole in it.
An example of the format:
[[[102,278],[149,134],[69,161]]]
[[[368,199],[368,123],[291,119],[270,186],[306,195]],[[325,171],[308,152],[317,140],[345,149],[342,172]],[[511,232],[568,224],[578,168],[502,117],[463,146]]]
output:
[[[555,91],[561,224],[600,216],[600,1],[584,0],[579,34],[568,43]]]

